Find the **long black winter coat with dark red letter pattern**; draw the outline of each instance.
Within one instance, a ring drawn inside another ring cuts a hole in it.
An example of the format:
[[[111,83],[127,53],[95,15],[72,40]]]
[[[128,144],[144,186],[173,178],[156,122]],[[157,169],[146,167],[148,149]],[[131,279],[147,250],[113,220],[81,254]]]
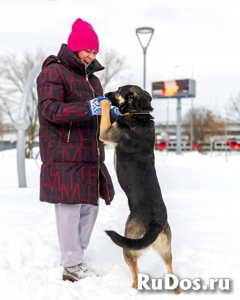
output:
[[[103,94],[93,74],[103,67],[95,59],[85,66],[65,44],[50,55],[37,77],[39,143],[41,156],[40,201],[98,205],[114,196],[99,140],[100,116],[89,116],[87,100]]]

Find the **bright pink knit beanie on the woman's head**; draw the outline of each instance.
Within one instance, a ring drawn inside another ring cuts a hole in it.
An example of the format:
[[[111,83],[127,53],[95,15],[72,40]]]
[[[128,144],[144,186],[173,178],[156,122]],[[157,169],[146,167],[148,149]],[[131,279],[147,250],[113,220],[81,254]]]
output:
[[[86,49],[98,52],[99,42],[97,34],[89,23],[78,18],[71,26],[67,47],[73,52]]]

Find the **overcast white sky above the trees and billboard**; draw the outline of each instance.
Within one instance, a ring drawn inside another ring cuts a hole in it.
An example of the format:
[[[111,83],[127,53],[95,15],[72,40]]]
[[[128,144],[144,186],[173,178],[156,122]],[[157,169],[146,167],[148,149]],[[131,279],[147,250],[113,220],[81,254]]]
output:
[[[81,17],[92,24],[100,44],[126,57],[126,78],[108,88],[142,86],[143,53],[135,28],[149,26],[155,31],[146,54],[147,91],[154,81],[189,78],[191,65],[194,105],[224,116],[229,95],[240,91],[238,0],[0,0],[0,7],[0,54],[37,47],[57,54],[71,24]],[[176,100],[169,102],[169,120],[174,121]],[[153,100],[152,106],[155,121],[165,121],[166,99]],[[188,108],[190,99],[182,99],[182,116]]]

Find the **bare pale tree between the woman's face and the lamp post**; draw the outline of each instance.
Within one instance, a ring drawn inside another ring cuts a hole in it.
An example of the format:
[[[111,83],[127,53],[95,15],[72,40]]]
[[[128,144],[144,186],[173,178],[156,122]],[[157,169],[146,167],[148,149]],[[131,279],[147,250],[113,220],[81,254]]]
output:
[[[97,54],[97,60],[105,67],[104,70],[96,73],[103,90],[112,80],[122,78],[124,71],[127,69],[126,58],[119,56],[116,49],[107,48],[104,45],[101,46],[100,52]]]

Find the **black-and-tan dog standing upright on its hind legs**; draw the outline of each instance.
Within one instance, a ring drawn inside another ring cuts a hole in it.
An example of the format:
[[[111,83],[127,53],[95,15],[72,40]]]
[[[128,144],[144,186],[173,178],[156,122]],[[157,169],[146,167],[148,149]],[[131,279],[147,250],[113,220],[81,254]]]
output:
[[[150,246],[161,255],[168,273],[173,273],[171,230],[154,167],[151,96],[136,85],[124,85],[104,95],[122,115],[111,124],[110,103],[101,100],[99,138],[114,144],[114,168],[130,209],[124,236],[112,230],[105,232],[123,248],[124,260],[132,272],[132,287],[137,288],[137,258]],[[181,289],[177,286],[174,292],[178,294]]]

